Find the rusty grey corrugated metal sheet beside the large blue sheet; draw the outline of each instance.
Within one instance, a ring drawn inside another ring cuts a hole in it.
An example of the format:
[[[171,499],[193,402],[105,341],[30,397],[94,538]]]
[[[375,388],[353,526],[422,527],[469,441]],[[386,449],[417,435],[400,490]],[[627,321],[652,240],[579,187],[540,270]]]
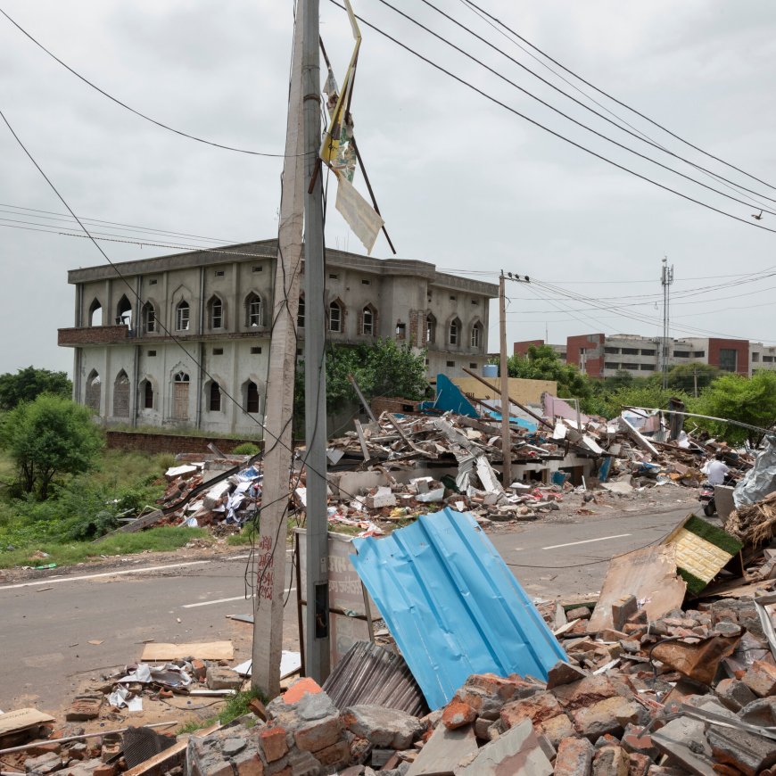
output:
[[[323,689],[341,711],[356,704],[398,708],[415,716],[428,711],[404,658],[370,641],[353,644]]]

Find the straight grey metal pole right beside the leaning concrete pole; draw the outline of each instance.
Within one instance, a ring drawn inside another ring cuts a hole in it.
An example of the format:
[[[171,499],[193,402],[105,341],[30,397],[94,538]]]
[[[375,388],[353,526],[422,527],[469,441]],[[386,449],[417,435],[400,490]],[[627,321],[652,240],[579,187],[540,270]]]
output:
[[[329,673],[328,516],[326,515],[326,305],[321,169],[318,0],[304,5],[301,83],[304,120],[304,412],[307,467],[307,612],[305,670]]]

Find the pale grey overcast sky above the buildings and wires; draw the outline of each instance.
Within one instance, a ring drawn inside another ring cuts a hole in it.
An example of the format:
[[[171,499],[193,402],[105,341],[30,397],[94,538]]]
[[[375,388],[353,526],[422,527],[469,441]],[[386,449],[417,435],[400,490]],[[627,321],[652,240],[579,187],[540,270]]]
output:
[[[463,0],[433,2],[592,104]],[[392,3],[575,119],[746,201],[727,200],[592,136],[379,0],[354,0],[367,21],[510,108],[746,221],[708,211],[549,135],[364,25],[352,111],[359,149],[400,258],[433,261],[460,274],[491,271],[492,277],[467,277],[494,282],[504,268],[592,298],[570,301],[542,285],[509,286],[508,342],[543,338],[547,329],[557,343],[569,334],[660,334],[656,300],[660,262],[667,255],[675,268],[672,334],[703,335],[703,330],[776,340],[771,304],[776,279],[734,285],[769,268],[776,272],[776,234],[753,226],[776,229],[776,216],[752,219],[763,206],[751,202],[753,195],[618,131],[420,0]],[[776,4],[477,4],[591,84],[776,186]],[[4,0],[0,7],[70,67],[137,110],[217,143],[282,153],[291,0]],[[342,78],[351,53],[350,28],[329,0],[321,0],[321,33]],[[776,189],[694,151],[552,67],[656,144],[753,189],[758,202],[776,211],[776,203],[764,199],[776,199]],[[180,244],[277,234],[282,160],[195,143],[137,118],[87,87],[2,16],[0,71],[0,109],[79,216],[199,235],[167,237]],[[67,270],[103,264],[103,257],[85,239],[29,230],[45,224],[73,231],[67,221],[43,218],[62,213],[62,203],[2,124],[0,165],[0,372],[29,364],[70,372],[72,351],[56,345],[57,328],[73,324]],[[366,194],[359,173],[355,183]],[[158,233],[109,225],[97,230],[129,240],[161,240]],[[361,252],[333,207],[326,239],[330,246]],[[102,245],[111,260],[170,252]],[[374,255],[390,255],[382,236]],[[701,293],[686,296],[701,286]],[[614,305],[621,307],[613,310]],[[494,309],[489,345],[498,346]]]

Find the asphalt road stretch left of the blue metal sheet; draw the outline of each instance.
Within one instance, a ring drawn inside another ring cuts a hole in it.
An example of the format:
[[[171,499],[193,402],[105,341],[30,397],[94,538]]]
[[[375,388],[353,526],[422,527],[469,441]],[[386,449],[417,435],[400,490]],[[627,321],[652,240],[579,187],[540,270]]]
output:
[[[247,660],[252,625],[227,619],[252,613],[244,599],[246,558],[155,565],[130,557],[117,572],[81,568],[31,584],[0,584],[0,709],[56,711],[84,679],[136,661],[144,640],[229,639],[238,661]],[[286,588],[288,581],[286,574]],[[286,605],[288,648],[296,648],[295,596],[294,586]]]

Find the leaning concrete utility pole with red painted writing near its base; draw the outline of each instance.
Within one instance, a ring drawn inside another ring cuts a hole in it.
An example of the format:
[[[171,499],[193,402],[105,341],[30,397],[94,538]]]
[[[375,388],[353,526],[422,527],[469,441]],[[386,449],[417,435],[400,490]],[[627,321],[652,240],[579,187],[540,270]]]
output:
[[[301,125],[303,3],[293,37],[285,162],[277,232],[272,339],[264,403],[264,481],[253,590],[253,687],[274,698],[280,689],[285,588],[285,517],[293,457],[293,376],[304,206],[304,144]]]

